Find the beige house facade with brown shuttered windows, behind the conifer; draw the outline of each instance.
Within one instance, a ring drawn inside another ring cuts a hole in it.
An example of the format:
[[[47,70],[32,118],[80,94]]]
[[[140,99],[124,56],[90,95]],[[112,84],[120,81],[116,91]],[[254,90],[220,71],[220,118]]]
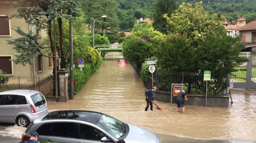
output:
[[[6,16],[17,12],[14,7],[15,2],[15,0],[0,0],[0,69],[10,76],[8,85],[34,85],[34,82],[38,81],[34,80],[35,77],[40,77],[40,80],[43,80],[49,74],[52,74],[53,61],[52,58],[43,57],[40,54],[37,58],[34,58],[33,65],[16,65],[11,61],[16,59],[15,55],[19,53],[16,53],[13,45],[7,44],[5,39],[10,40],[20,37],[13,30],[14,26],[19,26],[25,33],[31,30],[31,25],[25,23],[24,19],[8,19],[8,16]],[[35,26],[32,27],[32,30],[34,34],[39,34],[39,41],[47,36],[45,31],[38,31]]]

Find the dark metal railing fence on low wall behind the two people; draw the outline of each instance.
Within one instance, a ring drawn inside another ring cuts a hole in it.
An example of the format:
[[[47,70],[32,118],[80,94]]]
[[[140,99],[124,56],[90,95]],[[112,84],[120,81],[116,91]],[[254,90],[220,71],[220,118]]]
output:
[[[158,84],[158,91],[171,92],[172,84],[183,84],[183,89],[188,94],[206,93],[206,81],[203,81],[203,73],[156,71],[154,80]],[[226,94],[229,85],[228,81],[228,77],[221,79],[221,81],[216,79],[208,81],[208,94]]]

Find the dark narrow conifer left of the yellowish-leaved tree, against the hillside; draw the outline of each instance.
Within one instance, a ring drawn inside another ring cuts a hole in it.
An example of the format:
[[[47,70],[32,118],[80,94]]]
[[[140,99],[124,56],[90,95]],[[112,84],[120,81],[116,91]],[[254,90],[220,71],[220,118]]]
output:
[[[167,21],[163,17],[164,14],[170,15],[177,9],[176,0],[157,0],[155,4],[154,23],[153,27],[166,28]],[[167,30],[159,30],[162,33],[167,33]]]

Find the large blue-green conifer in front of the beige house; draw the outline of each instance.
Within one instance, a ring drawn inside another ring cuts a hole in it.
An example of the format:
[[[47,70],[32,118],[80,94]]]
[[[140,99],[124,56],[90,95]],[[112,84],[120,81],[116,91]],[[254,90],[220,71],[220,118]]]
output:
[[[38,41],[38,35],[33,35],[32,31],[25,33],[21,28],[16,27],[15,31],[21,36],[19,38],[7,40],[9,44],[14,45],[14,49],[19,55],[16,55],[14,60],[15,64],[29,63],[32,65],[34,57],[37,57],[38,54],[41,54],[45,57],[52,57],[53,60],[57,57],[54,57],[55,48],[53,42],[53,20],[61,21],[61,18],[73,19],[77,15],[77,5],[78,0],[18,0],[15,3],[17,8],[17,13],[11,15],[10,18],[24,18],[25,22],[36,26],[37,30],[46,30],[49,42],[46,46],[42,45]],[[69,15],[69,10],[73,11],[73,15]],[[60,24],[61,25],[61,24]],[[61,27],[59,26],[60,32],[62,32]],[[62,36],[60,36],[62,39]],[[61,40],[60,40],[61,41]],[[44,53],[45,49],[50,48],[51,55]],[[63,53],[63,42],[60,42],[60,57],[63,60],[62,67],[65,67],[65,53]],[[54,67],[55,67],[54,63]],[[54,70],[54,69],[53,69]],[[55,77],[55,74],[54,74]],[[55,78],[54,82],[55,83]],[[55,84],[53,86],[55,89]],[[55,90],[53,90],[55,91]],[[55,92],[53,92],[55,95]]]

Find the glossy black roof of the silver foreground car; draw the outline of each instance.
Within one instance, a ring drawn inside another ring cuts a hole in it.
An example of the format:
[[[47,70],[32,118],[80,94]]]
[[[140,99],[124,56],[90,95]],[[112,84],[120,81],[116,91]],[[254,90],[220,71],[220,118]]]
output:
[[[94,111],[85,111],[85,110],[60,110],[52,111],[47,114],[41,121],[47,120],[79,120],[92,124],[96,122],[101,117],[102,113]]]

